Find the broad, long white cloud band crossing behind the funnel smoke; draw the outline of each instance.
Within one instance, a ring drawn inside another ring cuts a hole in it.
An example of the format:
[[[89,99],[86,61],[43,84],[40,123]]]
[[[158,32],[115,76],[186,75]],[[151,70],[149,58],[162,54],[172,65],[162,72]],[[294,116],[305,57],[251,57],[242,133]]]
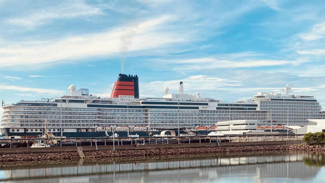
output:
[[[171,32],[159,32],[159,27],[172,16],[162,15],[141,23],[135,23],[136,32],[129,51],[152,49],[161,45],[182,42],[185,35]],[[125,27],[111,31],[84,34],[53,40],[45,43],[21,43],[0,48],[0,66],[34,65],[61,60],[80,61],[81,58],[100,55],[114,55],[119,52],[119,37],[124,34]],[[162,30],[161,30],[162,31]],[[10,43],[8,43],[10,44]],[[53,51],[56,50],[56,51]],[[42,56],[39,56],[42,55]]]

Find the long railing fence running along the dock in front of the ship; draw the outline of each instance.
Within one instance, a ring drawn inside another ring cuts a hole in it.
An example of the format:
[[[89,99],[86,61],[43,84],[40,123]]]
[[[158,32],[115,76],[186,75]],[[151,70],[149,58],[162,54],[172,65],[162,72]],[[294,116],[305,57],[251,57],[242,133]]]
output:
[[[261,142],[302,139],[303,134],[224,135],[224,136],[145,136],[145,137],[81,137],[81,138],[2,138],[1,148],[30,147],[34,140],[56,140],[51,146],[152,145],[180,143]]]

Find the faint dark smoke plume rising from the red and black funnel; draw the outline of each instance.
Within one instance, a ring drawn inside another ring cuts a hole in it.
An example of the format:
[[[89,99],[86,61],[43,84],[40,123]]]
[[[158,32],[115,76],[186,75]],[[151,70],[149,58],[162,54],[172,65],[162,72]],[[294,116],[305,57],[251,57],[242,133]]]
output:
[[[120,53],[121,73],[124,73],[126,53],[129,47],[132,45],[132,39],[135,36],[137,29],[138,29],[137,25],[128,27],[120,36],[119,53]]]

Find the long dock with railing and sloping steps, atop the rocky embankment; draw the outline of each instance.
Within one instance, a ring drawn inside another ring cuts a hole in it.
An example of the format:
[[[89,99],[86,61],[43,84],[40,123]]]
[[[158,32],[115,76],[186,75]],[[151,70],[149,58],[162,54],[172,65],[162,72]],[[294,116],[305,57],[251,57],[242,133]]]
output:
[[[150,137],[96,137],[96,138],[55,138],[59,142],[51,147],[31,148],[35,139],[0,139],[0,153],[76,151],[82,158],[82,151],[98,149],[149,149],[170,147],[211,147],[211,146],[253,146],[301,144],[302,134],[236,135],[236,136],[150,136]],[[53,139],[53,138],[51,138]]]

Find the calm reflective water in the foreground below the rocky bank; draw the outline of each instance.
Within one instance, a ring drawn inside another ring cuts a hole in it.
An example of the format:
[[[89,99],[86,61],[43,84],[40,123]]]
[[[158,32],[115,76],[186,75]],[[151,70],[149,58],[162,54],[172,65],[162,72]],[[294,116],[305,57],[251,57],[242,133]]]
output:
[[[268,154],[2,168],[0,182],[325,182],[325,156]]]

